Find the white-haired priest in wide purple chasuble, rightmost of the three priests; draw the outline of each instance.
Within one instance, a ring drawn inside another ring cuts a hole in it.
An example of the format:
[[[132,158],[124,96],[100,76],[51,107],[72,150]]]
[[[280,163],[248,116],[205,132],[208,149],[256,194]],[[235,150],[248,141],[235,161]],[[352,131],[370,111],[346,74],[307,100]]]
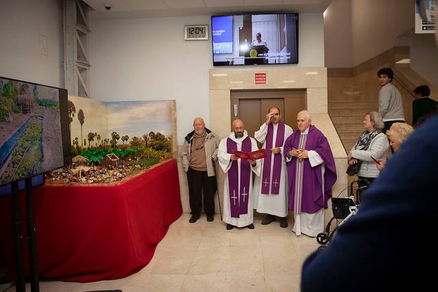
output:
[[[324,230],[324,209],[336,181],[335,159],[327,138],[311,124],[307,111],[297,116],[298,130],[284,146],[289,181],[289,210],[296,235],[315,237]]]

